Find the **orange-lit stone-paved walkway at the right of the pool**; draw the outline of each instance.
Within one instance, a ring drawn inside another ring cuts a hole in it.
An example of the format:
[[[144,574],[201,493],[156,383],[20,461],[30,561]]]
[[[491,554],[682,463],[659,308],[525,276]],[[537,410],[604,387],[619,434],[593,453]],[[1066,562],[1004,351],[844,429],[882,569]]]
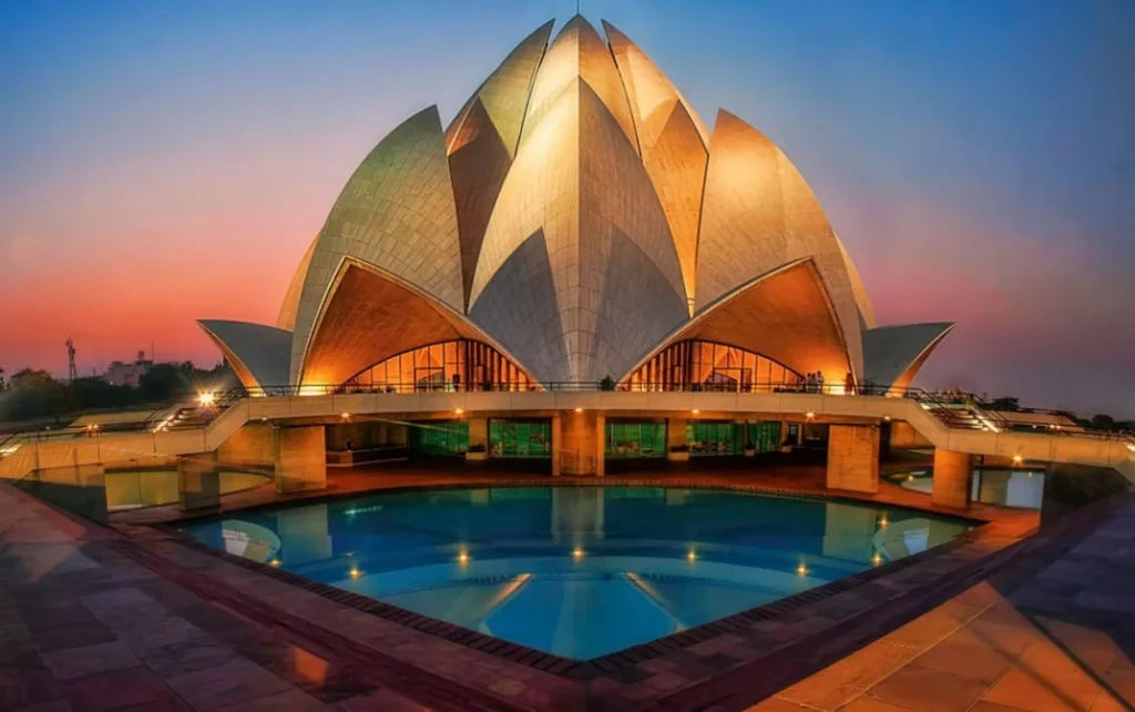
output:
[[[1002,571],[751,710],[1132,710],[1133,586],[1135,495],[1124,495],[1040,572]]]

